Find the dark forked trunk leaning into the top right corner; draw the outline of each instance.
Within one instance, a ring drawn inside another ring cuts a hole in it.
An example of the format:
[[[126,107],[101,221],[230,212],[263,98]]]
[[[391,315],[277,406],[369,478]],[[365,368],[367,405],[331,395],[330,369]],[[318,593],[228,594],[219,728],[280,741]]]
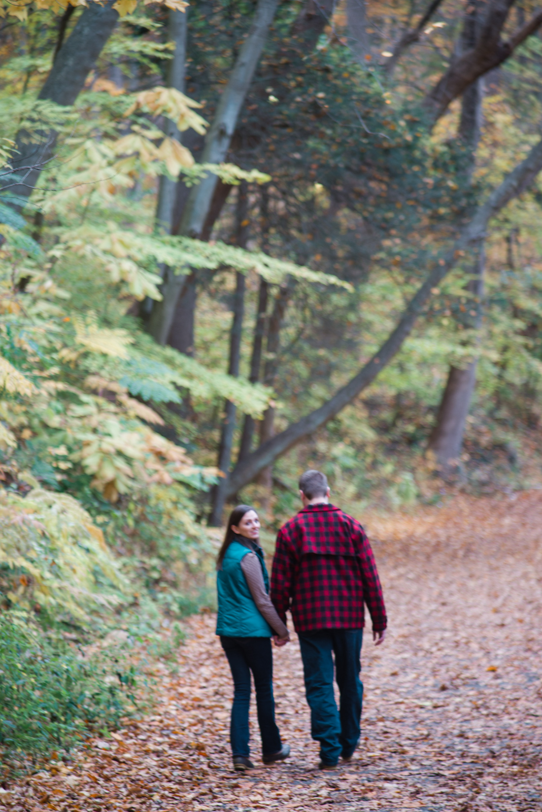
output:
[[[461,96],[484,73],[505,62],[518,45],[540,28],[542,9],[516,29],[509,39],[502,40],[502,28],[513,3],[514,0],[492,0],[488,3],[475,46],[452,59],[448,70],[425,97],[424,106],[433,123],[441,118],[450,102]]]

